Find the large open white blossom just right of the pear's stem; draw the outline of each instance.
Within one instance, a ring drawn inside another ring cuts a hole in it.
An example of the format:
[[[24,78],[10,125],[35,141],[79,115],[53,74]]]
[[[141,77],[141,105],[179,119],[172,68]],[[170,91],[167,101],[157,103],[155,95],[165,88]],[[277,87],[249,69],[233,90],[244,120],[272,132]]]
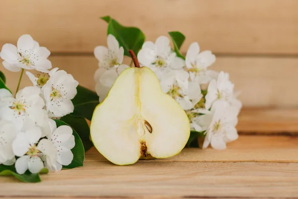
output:
[[[138,53],[138,60],[150,68],[158,80],[171,70],[182,69],[185,65],[184,60],[171,51],[170,40],[165,36],[158,37],[155,43],[145,42]]]

